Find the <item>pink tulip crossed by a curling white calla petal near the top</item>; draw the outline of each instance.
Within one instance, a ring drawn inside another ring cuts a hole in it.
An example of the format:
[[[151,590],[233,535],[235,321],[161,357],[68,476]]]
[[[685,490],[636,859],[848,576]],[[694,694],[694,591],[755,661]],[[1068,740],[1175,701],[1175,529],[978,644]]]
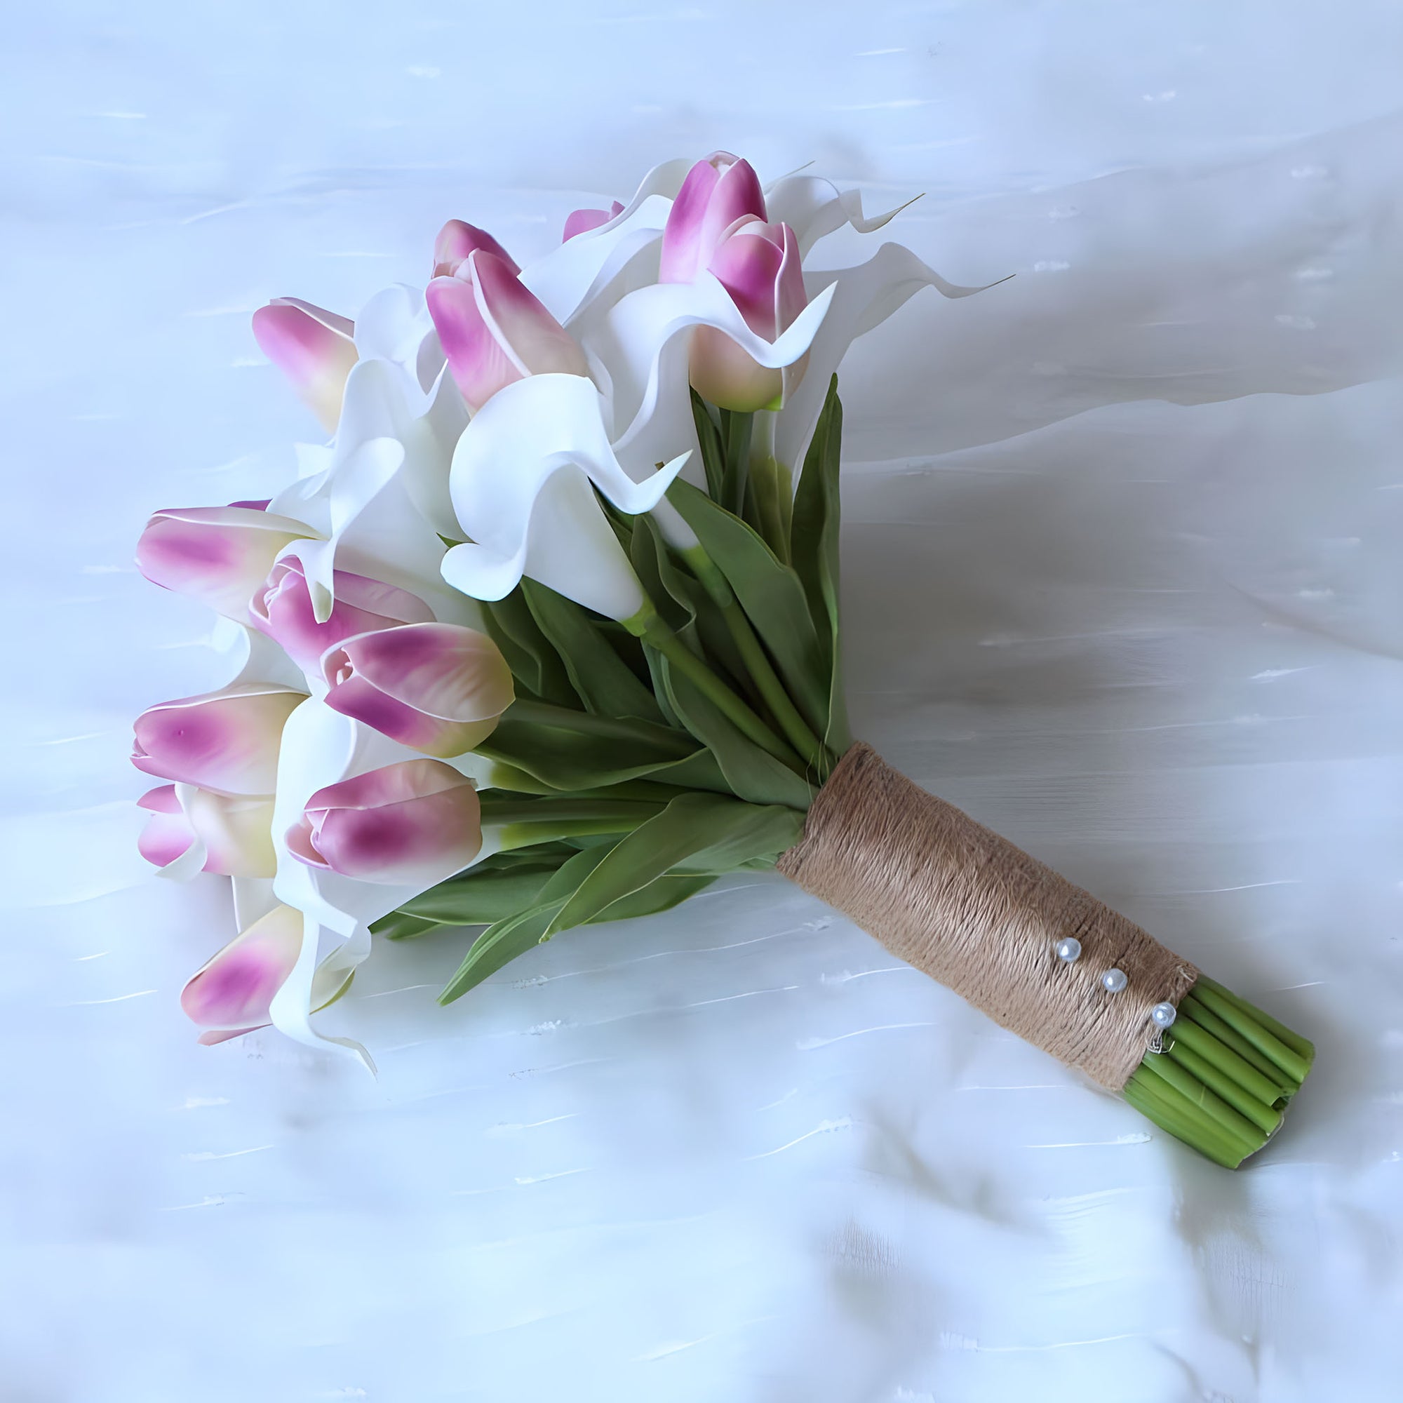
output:
[[[774,341],[804,310],[804,272],[798,240],[788,224],[738,219],[711,254],[709,271],[731,295],[745,324]],[[774,410],[804,375],[804,361],[787,370],[759,365],[724,331],[692,333],[692,386],[724,410]]]

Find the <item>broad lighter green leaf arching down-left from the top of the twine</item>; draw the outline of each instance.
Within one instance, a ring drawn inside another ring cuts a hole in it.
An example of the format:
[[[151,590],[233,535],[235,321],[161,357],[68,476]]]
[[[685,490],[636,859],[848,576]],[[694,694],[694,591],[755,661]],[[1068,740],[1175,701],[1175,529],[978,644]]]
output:
[[[720,794],[682,794],[603,856],[551,918],[549,932],[593,920],[679,864],[727,871],[763,853],[783,852],[803,835],[803,817]]]

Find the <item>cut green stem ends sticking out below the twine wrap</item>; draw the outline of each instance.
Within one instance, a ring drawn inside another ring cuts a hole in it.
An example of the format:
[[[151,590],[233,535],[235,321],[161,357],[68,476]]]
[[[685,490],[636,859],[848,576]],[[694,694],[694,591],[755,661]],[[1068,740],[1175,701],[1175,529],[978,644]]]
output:
[[[1162,1129],[1228,1169],[1277,1132],[1315,1047],[1200,975],[1163,1051],[1146,1052],[1124,1096]]]

